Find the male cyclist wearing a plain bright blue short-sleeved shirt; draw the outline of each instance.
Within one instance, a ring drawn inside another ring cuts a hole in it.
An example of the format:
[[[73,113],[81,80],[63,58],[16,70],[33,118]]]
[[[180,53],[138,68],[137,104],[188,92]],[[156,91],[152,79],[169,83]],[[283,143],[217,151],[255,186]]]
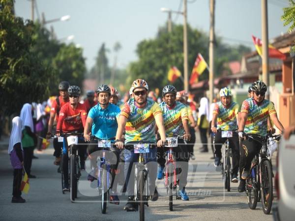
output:
[[[85,141],[90,141],[90,134],[92,134],[97,138],[111,140],[114,142],[118,129],[117,117],[119,116],[120,109],[118,106],[109,102],[111,88],[108,85],[100,85],[97,88],[96,93],[98,95],[98,105],[91,108],[88,113],[86,126],[84,128]],[[91,127],[92,132],[90,133]],[[96,158],[94,157],[95,154],[92,153],[99,150],[101,150],[101,147],[97,146],[97,141],[92,141],[88,146],[89,158],[96,161]],[[107,154],[107,157],[109,157],[108,160],[114,163],[111,165],[112,183],[110,189],[112,189],[112,194],[110,195],[110,203],[118,205],[119,198],[117,195],[117,184],[114,185],[114,180],[115,174],[118,173],[117,167],[119,153],[118,151],[112,150],[112,153]]]

